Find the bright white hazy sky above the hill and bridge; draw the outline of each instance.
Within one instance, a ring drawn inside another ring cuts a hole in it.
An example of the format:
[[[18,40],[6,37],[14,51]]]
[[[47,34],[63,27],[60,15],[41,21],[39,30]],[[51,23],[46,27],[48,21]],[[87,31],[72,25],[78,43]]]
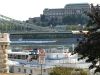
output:
[[[69,3],[95,3],[100,0],[0,0],[0,14],[16,20],[27,20],[42,14],[44,8],[63,8]]]

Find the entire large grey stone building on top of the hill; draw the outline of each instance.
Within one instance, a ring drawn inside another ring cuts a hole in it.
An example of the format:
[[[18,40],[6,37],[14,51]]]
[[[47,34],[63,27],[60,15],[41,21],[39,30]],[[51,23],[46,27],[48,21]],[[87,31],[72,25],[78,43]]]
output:
[[[44,9],[43,15],[47,20],[55,20],[58,24],[62,23],[64,16],[68,15],[84,15],[85,11],[90,10],[90,5],[88,3],[79,3],[79,4],[67,4],[64,8],[58,9]]]

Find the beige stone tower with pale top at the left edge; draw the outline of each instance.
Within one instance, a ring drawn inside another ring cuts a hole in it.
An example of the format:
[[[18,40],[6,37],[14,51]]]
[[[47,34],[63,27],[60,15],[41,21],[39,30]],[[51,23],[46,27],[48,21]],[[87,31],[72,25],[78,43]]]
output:
[[[7,49],[9,43],[10,43],[9,34],[0,33],[0,73],[9,72],[9,68],[7,64],[7,60],[8,60]]]

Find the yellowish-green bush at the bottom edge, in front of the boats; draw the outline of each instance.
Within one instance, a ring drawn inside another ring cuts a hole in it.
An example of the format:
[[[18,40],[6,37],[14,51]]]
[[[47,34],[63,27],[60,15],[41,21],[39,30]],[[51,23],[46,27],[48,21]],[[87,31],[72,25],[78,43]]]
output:
[[[74,69],[74,68],[66,68],[66,67],[55,67],[51,71],[50,75],[72,75],[72,72],[80,72],[80,75],[88,75],[88,71],[84,71],[83,69]]]

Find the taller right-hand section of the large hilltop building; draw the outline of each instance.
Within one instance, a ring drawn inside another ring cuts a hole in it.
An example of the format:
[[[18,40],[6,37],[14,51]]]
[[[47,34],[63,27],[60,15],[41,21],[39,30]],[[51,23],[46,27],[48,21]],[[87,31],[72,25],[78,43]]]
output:
[[[65,14],[83,14],[85,11],[90,11],[90,5],[88,3],[81,4],[67,4],[64,9]]]

